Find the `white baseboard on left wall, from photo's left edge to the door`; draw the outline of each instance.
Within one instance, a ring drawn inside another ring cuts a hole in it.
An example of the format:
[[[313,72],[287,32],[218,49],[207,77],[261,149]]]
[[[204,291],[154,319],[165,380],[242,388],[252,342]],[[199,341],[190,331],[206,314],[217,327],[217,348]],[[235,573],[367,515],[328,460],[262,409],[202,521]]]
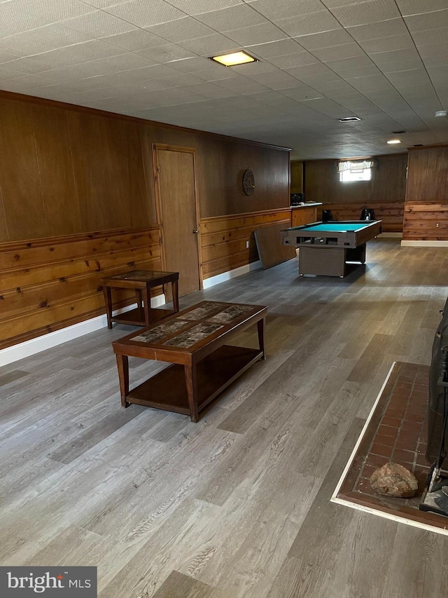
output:
[[[159,307],[163,304],[165,304],[164,294],[151,298],[151,307]],[[113,315],[130,311],[135,307],[137,307],[137,304],[128,305],[124,308],[117,309],[113,312]],[[36,337],[36,339],[30,339],[29,341],[25,341],[18,345],[6,347],[0,351],[0,367],[20,359],[25,359],[30,355],[34,355],[34,353],[40,353],[41,351],[45,351],[45,349],[62,345],[62,343],[78,339],[78,337],[83,337],[84,334],[89,334],[89,332],[94,332],[95,330],[106,327],[106,314],[97,315],[96,318],[90,318],[90,320],[85,320],[85,322],[78,322],[78,324],[55,330],[55,332],[43,334],[41,337]]]

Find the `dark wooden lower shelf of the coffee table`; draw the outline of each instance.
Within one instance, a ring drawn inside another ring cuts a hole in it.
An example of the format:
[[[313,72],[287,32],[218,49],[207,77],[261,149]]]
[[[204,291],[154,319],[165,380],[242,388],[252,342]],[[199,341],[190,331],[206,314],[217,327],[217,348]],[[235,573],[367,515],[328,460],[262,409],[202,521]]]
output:
[[[198,411],[204,409],[224,388],[260,360],[262,355],[260,349],[223,345],[198,362],[195,396]],[[126,401],[189,415],[184,366],[172,364],[163,369],[133,388],[126,396]]]

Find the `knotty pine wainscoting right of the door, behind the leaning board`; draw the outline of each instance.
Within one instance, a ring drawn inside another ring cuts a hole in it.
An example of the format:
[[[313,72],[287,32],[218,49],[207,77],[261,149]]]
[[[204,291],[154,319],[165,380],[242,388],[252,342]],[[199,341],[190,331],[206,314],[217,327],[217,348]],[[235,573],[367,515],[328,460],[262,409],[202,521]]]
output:
[[[253,231],[272,224],[284,224],[288,228],[290,222],[290,208],[202,218],[202,277],[211,278],[257,261]],[[249,247],[246,247],[247,241]]]

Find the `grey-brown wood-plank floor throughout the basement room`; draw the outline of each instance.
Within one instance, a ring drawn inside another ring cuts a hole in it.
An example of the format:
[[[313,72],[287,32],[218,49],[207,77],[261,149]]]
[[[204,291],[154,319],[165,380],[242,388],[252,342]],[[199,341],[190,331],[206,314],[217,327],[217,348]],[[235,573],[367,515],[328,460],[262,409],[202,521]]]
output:
[[[102,329],[0,369],[1,564],[94,565],[100,598],[439,598],[448,538],[330,503],[394,360],[428,364],[448,252],[367,244],[181,298],[269,306],[267,360],[202,415],[120,407]],[[255,331],[235,340],[255,346]],[[130,359],[139,383],[164,365]]]

